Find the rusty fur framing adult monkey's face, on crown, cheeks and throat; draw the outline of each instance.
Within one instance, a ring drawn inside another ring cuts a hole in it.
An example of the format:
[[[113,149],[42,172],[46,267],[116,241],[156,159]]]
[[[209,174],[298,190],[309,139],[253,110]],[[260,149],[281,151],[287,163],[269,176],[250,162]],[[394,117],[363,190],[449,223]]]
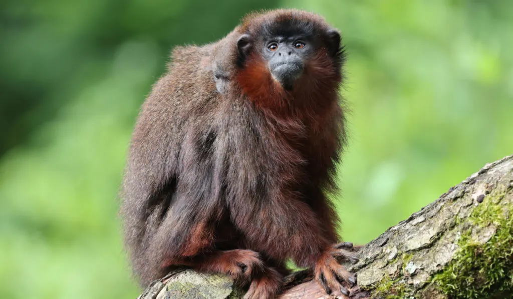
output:
[[[323,30],[329,30],[324,19],[318,15],[298,10],[275,10],[271,12],[252,13],[244,18],[238,28],[242,33],[258,34],[262,24],[289,21],[298,18],[305,23],[312,23]],[[284,88],[272,77],[267,62],[260,51],[252,51],[244,66],[236,71],[236,81],[242,92],[257,107],[282,114],[289,111],[304,111],[329,106],[338,98],[337,91],[342,80],[341,63],[343,52],[336,57],[328,54],[326,48],[318,49],[314,57],[305,62],[305,70],[292,90]],[[294,109],[298,108],[298,109]]]

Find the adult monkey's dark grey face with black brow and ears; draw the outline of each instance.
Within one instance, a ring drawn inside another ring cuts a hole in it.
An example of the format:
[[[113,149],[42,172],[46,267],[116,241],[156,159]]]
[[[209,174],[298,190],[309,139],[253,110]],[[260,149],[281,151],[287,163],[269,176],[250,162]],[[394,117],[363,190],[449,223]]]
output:
[[[259,30],[243,34],[237,47],[241,62],[252,55],[261,57],[274,81],[285,90],[292,90],[305,75],[309,63],[320,55],[337,59],[340,34],[304,19],[278,18],[264,23]]]

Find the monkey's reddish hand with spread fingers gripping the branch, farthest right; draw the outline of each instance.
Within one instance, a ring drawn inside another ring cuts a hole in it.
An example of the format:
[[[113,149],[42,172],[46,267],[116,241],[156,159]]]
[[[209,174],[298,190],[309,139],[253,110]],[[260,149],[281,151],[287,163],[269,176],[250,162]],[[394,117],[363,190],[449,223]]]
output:
[[[346,259],[351,263],[358,262],[358,258],[350,251],[351,243],[339,243],[327,249],[315,263],[315,278],[327,294],[348,297],[349,290],[356,285],[356,276],[349,273],[337,260]],[[346,286],[343,286],[342,284]]]

